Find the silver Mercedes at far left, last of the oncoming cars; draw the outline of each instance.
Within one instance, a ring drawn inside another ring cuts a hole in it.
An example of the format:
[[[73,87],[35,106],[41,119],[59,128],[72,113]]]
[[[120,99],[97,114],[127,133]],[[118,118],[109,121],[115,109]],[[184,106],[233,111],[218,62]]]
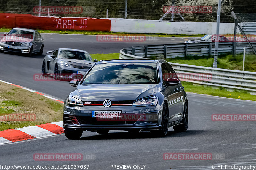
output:
[[[0,41],[0,51],[24,53],[32,56],[33,53],[43,54],[44,39],[36,30],[26,28],[13,28],[9,33],[3,34]]]

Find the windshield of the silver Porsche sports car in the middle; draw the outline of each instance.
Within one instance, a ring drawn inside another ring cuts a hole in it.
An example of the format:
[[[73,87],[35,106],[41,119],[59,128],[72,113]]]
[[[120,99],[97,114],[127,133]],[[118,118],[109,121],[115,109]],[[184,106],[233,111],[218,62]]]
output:
[[[72,50],[62,50],[60,51],[59,58],[70,58],[76,60],[87,60],[92,61],[92,57],[85,52],[72,51]]]

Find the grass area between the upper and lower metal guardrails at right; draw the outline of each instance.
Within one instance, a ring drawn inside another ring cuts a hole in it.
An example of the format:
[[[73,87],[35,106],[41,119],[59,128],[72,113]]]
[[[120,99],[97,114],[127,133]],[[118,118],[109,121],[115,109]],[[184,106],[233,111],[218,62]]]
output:
[[[198,65],[205,67],[213,66],[213,56],[195,56],[195,57],[184,57],[184,58],[168,58],[168,62]],[[231,70],[242,70],[243,69],[243,54],[238,54],[236,57],[233,55],[219,56],[218,57],[218,68],[231,69]],[[252,54],[246,54],[245,56],[245,71],[256,72],[256,56]]]

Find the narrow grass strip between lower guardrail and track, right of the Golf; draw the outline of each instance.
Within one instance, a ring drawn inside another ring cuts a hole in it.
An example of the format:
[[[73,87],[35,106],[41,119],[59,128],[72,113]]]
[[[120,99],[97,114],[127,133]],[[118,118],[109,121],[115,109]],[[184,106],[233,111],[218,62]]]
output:
[[[227,97],[233,99],[253,100],[256,101],[256,95],[249,94],[245,90],[228,91],[227,89],[220,87],[218,89],[211,86],[197,85],[191,82],[182,81],[182,85],[186,92],[193,92],[198,94],[208,94],[212,96]]]

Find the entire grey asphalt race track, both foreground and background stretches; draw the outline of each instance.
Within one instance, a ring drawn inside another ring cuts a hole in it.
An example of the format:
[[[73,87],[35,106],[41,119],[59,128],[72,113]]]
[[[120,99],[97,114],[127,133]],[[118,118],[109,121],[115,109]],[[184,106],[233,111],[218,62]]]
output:
[[[56,48],[78,48],[93,53],[118,53],[121,48],[142,44],[184,42],[188,38],[157,38],[137,43],[98,42],[95,36],[42,34],[44,54]],[[0,80],[28,87],[64,100],[73,87],[62,81],[34,81],[41,73],[42,56],[31,58],[0,53]],[[185,89],[186,90],[186,89]],[[148,170],[212,169],[212,165],[256,166],[255,122],[214,122],[212,114],[255,114],[256,102],[188,94],[187,132],[154,137],[149,132],[112,131],[107,136],[83,132],[80,140],[64,134],[0,145],[1,165],[90,165],[89,169],[111,169],[111,165],[145,165]],[[164,153],[212,153],[213,160],[163,160]],[[83,161],[35,161],[35,153],[82,153]],[[86,155],[94,155],[93,160]],[[224,156],[224,157],[223,157]],[[216,158],[216,157],[215,157]],[[143,166],[142,166],[143,167]],[[112,168],[113,169],[113,168]],[[219,168],[220,169],[220,168]]]

